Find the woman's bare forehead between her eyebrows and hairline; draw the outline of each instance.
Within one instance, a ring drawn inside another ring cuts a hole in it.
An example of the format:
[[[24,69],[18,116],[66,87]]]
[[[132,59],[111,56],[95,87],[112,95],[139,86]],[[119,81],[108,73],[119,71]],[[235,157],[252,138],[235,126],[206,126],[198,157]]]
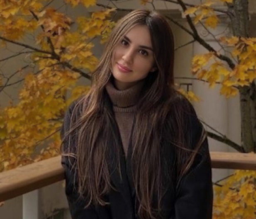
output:
[[[133,44],[152,46],[149,28],[146,25],[136,25],[125,34]]]

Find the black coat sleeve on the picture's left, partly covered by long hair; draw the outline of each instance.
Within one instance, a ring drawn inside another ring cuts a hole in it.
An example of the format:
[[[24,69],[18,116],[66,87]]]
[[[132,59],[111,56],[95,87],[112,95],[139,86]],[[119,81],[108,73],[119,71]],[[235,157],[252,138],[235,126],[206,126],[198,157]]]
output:
[[[69,130],[71,123],[71,114],[74,108],[74,104],[69,107],[67,110],[63,125],[61,127],[61,139],[63,139],[66,132]],[[85,201],[80,198],[77,192],[77,182],[75,180],[75,170],[73,168],[73,163],[75,162],[75,158],[63,156],[63,153],[67,153],[68,151],[68,143],[67,141],[63,141],[62,145],[62,156],[61,156],[61,165],[65,170],[65,181],[66,181],[66,197],[68,200],[69,209],[71,212],[72,219],[98,219],[96,214],[95,207],[93,205],[89,206],[85,209]]]

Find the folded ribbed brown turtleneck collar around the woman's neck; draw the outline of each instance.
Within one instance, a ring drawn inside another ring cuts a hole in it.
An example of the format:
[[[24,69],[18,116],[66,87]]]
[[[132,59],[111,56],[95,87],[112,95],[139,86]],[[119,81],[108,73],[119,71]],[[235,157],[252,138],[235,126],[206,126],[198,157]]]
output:
[[[127,108],[137,104],[143,84],[144,81],[142,80],[127,90],[117,90],[113,83],[109,81],[106,90],[114,106]]]

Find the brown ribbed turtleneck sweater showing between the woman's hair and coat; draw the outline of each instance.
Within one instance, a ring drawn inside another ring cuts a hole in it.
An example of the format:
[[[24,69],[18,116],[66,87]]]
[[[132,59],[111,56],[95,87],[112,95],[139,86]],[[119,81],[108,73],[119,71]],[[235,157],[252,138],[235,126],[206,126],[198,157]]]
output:
[[[122,139],[125,156],[127,156],[136,104],[139,100],[143,83],[144,81],[141,81],[127,90],[117,90],[112,82],[106,85],[107,93],[113,104],[113,111]]]

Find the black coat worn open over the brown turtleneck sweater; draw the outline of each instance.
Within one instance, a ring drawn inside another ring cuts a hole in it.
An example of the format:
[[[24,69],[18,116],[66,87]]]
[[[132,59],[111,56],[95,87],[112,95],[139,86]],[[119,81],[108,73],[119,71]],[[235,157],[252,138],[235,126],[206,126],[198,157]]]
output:
[[[109,101],[109,100],[108,100]],[[110,104],[110,103],[109,103]],[[69,107],[66,112],[61,136],[66,133],[70,127],[71,113],[73,112],[74,104]],[[113,112],[112,112],[113,113]],[[191,119],[189,128],[192,130],[194,141],[198,141],[202,125],[197,117]],[[112,121],[113,130],[117,141],[122,147],[122,141],[119,134],[119,129],[115,120]],[[174,146],[171,146],[169,141],[163,143],[163,154],[166,160],[166,167],[173,167]],[[64,152],[67,148],[65,142],[63,144]],[[203,142],[200,154],[196,156],[190,170],[183,176],[180,183],[176,185],[175,179],[164,178],[164,185],[168,188],[163,197],[162,202],[162,217],[163,219],[211,219],[212,218],[212,170],[207,139]],[[84,208],[85,202],[79,198],[78,192],[74,188],[74,170],[71,168],[72,158],[68,159],[62,156],[62,165],[66,174],[66,196],[71,211],[72,219],[139,219],[136,217],[135,206],[135,189],[132,184],[131,170],[131,141],[128,147],[127,159],[125,159],[123,150],[120,156],[120,165],[122,180],[116,168],[117,154],[110,147],[110,156],[108,159],[109,173],[111,174],[111,183],[115,185],[117,191],[111,190],[107,195],[106,200],[110,205],[94,206]],[[71,162],[70,162],[71,161]],[[175,168],[174,168],[175,169]]]

